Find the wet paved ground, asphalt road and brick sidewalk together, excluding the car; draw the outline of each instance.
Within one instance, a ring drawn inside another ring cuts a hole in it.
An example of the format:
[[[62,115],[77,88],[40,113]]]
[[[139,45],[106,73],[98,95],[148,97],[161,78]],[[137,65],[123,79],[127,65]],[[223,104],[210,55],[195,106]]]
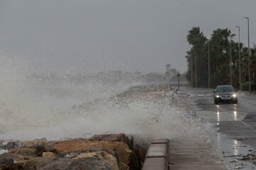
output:
[[[213,89],[183,87],[181,93],[188,95],[206,139],[173,141],[171,168],[256,169],[256,95],[238,92],[238,104],[215,105]]]

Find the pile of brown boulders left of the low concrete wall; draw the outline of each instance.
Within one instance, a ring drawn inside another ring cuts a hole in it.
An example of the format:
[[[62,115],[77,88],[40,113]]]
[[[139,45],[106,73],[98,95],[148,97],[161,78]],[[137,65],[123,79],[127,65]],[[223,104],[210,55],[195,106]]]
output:
[[[135,145],[133,137],[124,134],[59,141],[33,140],[1,154],[0,170],[139,170],[145,154],[146,148]]]

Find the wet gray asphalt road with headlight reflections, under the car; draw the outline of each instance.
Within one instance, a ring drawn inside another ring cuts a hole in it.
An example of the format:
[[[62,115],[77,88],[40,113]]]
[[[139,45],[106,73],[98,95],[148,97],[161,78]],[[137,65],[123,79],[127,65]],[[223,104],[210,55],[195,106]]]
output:
[[[206,125],[226,169],[256,169],[256,95],[238,92],[238,104],[213,103],[213,89],[183,88]]]

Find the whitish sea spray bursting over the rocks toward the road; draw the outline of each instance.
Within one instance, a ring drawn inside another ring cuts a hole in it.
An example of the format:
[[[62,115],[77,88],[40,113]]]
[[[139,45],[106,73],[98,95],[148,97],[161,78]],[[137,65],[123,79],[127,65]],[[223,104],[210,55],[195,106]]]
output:
[[[142,74],[32,74],[21,63],[1,60],[1,140],[119,132],[176,138],[198,130],[197,120],[188,119],[190,112],[181,106],[186,98],[160,85],[143,85],[150,82]]]

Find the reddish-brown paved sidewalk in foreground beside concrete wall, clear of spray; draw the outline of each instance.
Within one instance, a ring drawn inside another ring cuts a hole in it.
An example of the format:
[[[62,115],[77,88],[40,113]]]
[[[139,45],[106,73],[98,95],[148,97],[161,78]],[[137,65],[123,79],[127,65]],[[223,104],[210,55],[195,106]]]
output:
[[[223,160],[218,156],[210,139],[198,142],[196,139],[170,142],[170,169],[218,169],[224,170]]]

